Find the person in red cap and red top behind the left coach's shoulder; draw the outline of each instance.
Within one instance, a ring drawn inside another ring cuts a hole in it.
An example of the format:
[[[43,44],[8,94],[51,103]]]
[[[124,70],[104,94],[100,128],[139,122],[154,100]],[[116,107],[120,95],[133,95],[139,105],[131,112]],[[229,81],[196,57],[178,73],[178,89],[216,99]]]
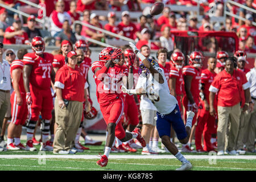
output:
[[[53,71],[57,73],[57,71],[65,65],[65,56],[67,56],[69,51],[72,51],[73,46],[72,43],[68,40],[63,40],[60,46],[60,53],[58,55],[54,55],[53,59]]]

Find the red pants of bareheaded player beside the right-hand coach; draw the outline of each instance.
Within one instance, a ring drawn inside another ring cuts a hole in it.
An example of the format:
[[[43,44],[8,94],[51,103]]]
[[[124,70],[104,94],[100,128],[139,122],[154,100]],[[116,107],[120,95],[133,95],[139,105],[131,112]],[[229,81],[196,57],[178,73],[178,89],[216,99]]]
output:
[[[212,138],[214,130],[215,117],[210,115],[208,110],[205,110],[204,102],[201,102],[201,104],[203,104],[203,109],[199,109],[195,132],[196,150],[204,149],[205,151],[211,151],[213,148],[211,147],[210,138]],[[202,134],[204,137],[204,148],[201,145]]]

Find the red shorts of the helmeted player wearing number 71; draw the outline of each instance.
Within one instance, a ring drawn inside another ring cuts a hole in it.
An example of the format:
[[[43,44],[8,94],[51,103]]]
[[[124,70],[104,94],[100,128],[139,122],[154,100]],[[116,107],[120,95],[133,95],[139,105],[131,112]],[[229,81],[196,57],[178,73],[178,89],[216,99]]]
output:
[[[51,89],[42,90],[30,85],[30,93],[32,99],[29,110],[30,120],[38,121],[40,112],[42,119],[51,119],[53,109]]]

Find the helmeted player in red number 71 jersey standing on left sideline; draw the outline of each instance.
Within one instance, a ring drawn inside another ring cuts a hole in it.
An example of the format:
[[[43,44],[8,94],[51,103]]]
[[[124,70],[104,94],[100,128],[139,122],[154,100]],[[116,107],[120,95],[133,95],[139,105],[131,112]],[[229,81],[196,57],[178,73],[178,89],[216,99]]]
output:
[[[40,150],[52,151],[53,147],[48,140],[48,135],[53,109],[51,81],[55,82],[55,72],[52,69],[53,55],[44,52],[45,44],[40,36],[35,36],[32,39],[31,48],[34,52],[27,53],[23,57],[23,80],[30,113],[27,123],[27,140],[32,140],[36,121],[41,113],[43,143]]]

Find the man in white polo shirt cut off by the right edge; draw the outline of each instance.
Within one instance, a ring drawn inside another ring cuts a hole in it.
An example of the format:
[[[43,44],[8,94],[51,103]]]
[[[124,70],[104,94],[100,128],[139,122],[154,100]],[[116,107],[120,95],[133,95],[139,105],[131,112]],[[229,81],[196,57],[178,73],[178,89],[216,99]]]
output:
[[[248,126],[248,134],[246,140],[247,152],[256,153],[255,150],[255,135],[256,135],[256,58],[254,61],[254,68],[250,72],[246,73],[246,78],[250,82],[250,93],[251,93],[251,102],[253,102],[253,109],[250,111],[250,121]]]

